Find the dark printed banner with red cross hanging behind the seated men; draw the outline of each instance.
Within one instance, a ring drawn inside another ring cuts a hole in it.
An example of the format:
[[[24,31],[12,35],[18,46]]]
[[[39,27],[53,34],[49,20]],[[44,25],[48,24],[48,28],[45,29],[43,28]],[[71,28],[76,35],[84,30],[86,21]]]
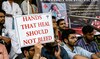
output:
[[[82,35],[82,27],[92,25],[100,29],[100,0],[37,0],[40,12],[50,12],[52,5],[56,5],[61,17],[65,17],[67,27],[75,29]],[[54,12],[52,15],[55,15]],[[59,14],[57,14],[57,18]]]

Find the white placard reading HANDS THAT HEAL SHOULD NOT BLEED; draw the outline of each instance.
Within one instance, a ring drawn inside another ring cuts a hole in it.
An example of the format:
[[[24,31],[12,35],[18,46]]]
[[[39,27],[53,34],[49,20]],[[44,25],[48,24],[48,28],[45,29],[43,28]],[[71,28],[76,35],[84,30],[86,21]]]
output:
[[[54,42],[51,13],[15,16],[14,21],[21,47]]]

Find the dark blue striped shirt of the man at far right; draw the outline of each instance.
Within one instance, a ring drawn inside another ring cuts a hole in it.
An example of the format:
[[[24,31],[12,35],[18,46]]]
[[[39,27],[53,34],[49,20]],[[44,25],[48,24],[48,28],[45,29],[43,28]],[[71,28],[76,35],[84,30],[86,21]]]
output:
[[[98,45],[95,41],[92,41],[92,42],[90,42],[90,44],[88,44],[88,43],[86,43],[84,38],[81,38],[77,41],[76,45],[78,45],[92,53],[100,52]]]

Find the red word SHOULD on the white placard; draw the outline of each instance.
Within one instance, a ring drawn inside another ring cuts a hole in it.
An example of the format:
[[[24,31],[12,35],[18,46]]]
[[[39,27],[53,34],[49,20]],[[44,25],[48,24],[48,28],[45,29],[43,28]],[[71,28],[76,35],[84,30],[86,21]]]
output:
[[[41,29],[41,30],[35,30],[35,31],[27,31],[26,36],[34,36],[34,35],[40,35],[40,34],[47,34],[48,29]]]

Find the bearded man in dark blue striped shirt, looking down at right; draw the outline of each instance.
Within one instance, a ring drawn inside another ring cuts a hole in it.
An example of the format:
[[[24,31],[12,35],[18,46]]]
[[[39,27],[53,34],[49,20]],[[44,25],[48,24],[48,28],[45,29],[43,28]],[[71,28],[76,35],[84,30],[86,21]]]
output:
[[[84,26],[82,28],[83,38],[77,41],[77,45],[90,51],[96,53],[100,57],[100,50],[97,43],[94,41],[94,28],[90,25]]]

